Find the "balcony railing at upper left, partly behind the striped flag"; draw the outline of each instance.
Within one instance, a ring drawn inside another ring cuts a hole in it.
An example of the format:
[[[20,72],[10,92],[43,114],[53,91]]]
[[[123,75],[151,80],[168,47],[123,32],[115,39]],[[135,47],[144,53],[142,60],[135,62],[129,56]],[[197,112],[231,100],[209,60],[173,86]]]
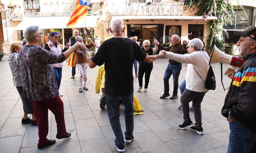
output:
[[[11,18],[24,17],[50,17],[50,16],[71,16],[75,4],[34,4],[34,5],[17,5],[16,8],[10,8]],[[98,15],[100,12],[99,3],[88,5],[88,15]]]

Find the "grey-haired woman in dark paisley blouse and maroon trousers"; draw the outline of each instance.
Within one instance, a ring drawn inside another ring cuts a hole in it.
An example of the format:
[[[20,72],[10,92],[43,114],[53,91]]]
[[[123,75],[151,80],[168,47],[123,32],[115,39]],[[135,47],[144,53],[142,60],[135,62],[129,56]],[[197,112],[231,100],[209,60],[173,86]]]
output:
[[[38,125],[39,140],[37,148],[42,149],[54,144],[54,139],[47,139],[48,109],[55,115],[57,123],[56,138],[68,138],[66,132],[63,102],[51,64],[61,63],[82,44],[77,42],[62,54],[53,54],[40,46],[42,31],[39,26],[29,26],[23,31],[27,44],[19,52],[20,69],[24,98],[31,99],[35,119]]]

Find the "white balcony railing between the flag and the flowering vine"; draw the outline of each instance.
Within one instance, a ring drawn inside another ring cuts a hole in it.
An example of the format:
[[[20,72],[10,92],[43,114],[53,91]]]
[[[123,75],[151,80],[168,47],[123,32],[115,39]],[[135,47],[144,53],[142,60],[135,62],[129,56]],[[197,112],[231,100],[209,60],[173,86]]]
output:
[[[113,3],[113,16],[163,16],[163,15],[183,15],[182,2],[170,3]]]

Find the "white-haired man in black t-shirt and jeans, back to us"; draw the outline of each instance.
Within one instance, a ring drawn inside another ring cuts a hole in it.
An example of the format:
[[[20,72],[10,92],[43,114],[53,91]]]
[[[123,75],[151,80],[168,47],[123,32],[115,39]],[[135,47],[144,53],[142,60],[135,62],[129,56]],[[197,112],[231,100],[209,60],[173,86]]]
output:
[[[104,41],[95,57],[91,58],[86,47],[86,58],[90,68],[105,63],[105,97],[108,109],[108,116],[113,132],[116,136],[115,146],[117,151],[124,151],[124,141],[133,141],[133,69],[134,59],[150,63],[164,54],[148,56],[135,41],[123,37],[123,20],[114,18],[111,21],[109,31],[113,33],[113,38]],[[120,99],[124,105],[124,117],[126,131],[125,140],[119,120]]]

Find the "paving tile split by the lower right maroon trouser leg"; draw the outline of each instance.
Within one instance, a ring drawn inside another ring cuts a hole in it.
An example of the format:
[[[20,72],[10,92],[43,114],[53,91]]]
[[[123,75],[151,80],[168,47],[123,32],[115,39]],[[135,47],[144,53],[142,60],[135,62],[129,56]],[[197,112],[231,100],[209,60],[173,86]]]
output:
[[[76,129],[72,113],[64,113],[64,120],[65,120],[66,130]],[[56,124],[55,116],[53,114],[52,114],[51,129],[52,129],[51,132],[57,132],[57,124]]]

